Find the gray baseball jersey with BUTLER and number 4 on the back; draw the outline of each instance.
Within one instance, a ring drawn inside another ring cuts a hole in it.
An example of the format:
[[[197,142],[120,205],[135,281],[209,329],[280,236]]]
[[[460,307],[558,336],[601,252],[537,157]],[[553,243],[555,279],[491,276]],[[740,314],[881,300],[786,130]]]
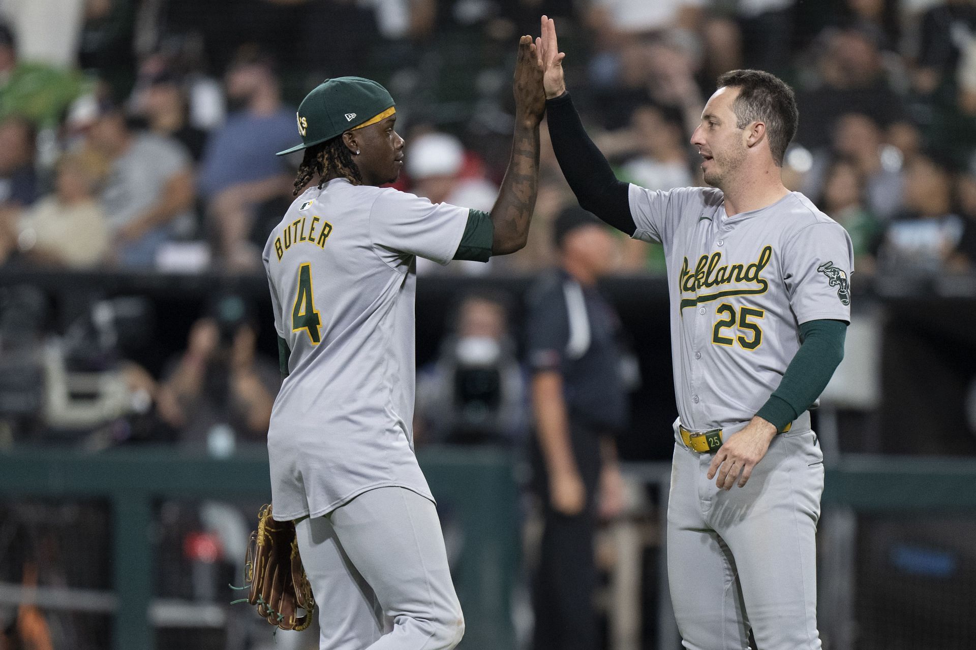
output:
[[[311,187],[264,247],[289,375],[267,434],[274,516],[380,486],[432,499],[414,456],[416,257],[446,264],[468,209],[345,178]]]

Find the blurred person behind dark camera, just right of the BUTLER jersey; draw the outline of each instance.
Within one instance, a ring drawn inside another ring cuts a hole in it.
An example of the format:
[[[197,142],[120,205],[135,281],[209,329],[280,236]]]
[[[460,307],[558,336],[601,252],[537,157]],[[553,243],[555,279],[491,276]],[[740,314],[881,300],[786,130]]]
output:
[[[418,372],[422,440],[521,442],[528,426],[528,404],[522,368],[508,333],[505,296],[469,293],[451,321],[437,360]]]

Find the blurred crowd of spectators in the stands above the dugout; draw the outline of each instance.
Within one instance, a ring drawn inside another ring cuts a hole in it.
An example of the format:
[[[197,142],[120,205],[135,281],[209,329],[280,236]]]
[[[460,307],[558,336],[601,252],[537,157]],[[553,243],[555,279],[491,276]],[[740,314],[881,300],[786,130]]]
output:
[[[508,160],[516,36],[560,22],[569,86],[618,174],[701,184],[688,137],[720,73],[799,97],[788,186],[851,233],[859,272],[976,260],[970,0],[32,0],[0,2],[0,262],[253,272],[291,199],[295,105],[329,76],[385,83],[400,189],[488,209]],[[60,20],[52,32],[48,17]],[[546,139],[545,129],[543,138]],[[573,203],[545,145],[527,249],[422,273],[533,273]],[[614,271],[663,272],[618,240]]]

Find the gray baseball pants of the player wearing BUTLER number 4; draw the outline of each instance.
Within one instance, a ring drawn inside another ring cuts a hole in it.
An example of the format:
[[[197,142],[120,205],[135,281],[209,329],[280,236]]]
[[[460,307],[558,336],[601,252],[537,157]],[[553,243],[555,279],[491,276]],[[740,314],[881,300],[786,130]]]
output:
[[[450,650],[465,631],[434,505],[378,487],[296,525],[321,650]]]

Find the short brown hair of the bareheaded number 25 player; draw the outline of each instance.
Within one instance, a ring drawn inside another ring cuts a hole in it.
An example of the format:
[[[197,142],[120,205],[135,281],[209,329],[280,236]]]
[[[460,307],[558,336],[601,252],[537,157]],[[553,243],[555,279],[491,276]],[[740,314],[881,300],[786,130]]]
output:
[[[732,103],[736,129],[745,129],[752,122],[766,125],[769,151],[776,165],[783,165],[790,140],[796,134],[799,110],[796,96],[782,79],[762,70],[731,70],[718,77],[718,88],[738,88],[739,96]]]

